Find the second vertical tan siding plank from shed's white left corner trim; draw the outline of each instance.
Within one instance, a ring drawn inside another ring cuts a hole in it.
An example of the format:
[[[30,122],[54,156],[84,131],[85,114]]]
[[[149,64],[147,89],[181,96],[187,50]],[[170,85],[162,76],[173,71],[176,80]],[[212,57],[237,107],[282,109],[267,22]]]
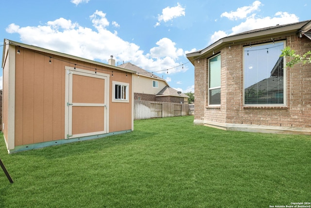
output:
[[[28,51],[24,55],[23,145],[34,143],[34,54]]]

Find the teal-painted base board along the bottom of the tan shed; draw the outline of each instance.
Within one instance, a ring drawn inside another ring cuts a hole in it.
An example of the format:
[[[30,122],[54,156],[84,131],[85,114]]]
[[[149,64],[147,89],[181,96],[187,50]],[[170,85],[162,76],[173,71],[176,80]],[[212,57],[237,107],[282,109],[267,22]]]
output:
[[[92,135],[92,136],[84,136],[84,137],[77,137],[77,138],[72,138],[72,139],[60,139],[60,140],[54,140],[54,141],[49,141],[49,142],[41,142],[41,143],[36,143],[36,144],[29,144],[29,145],[21,145],[21,146],[16,146],[13,150],[8,150],[9,153],[15,153],[19,151],[27,151],[27,150],[35,150],[35,149],[40,149],[44,147],[50,147],[50,146],[55,146],[55,145],[61,145],[61,144],[68,144],[72,142],[78,142],[78,141],[86,141],[86,140],[91,140],[91,139],[99,139],[107,136],[112,136],[112,135],[118,135],[118,134],[123,134],[123,133],[128,133],[132,132],[131,130],[125,130],[125,131],[120,131],[120,132],[110,132],[110,133],[104,133],[104,134],[97,134],[97,135]]]

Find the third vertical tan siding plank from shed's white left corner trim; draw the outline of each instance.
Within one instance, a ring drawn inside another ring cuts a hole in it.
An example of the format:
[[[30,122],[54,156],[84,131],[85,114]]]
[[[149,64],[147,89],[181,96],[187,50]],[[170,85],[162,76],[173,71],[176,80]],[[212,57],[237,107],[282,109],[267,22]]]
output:
[[[44,57],[35,54],[34,68],[34,142],[43,142],[44,137]],[[27,119],[27,118],[26,118]]]

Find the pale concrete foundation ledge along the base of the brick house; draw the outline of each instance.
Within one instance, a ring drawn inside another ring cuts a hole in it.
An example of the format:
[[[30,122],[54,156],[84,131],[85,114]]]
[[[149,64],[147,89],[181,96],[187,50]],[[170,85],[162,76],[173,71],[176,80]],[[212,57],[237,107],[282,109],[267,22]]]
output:
[[[311,135],[311,128],[296,128],[296,127],[277,127],[252,124],[228,124],[206,120],[194,120],[194,124],[204,125],[208,127],[218,128],[227,131],[241,132],[259,132],[259,133],[283,133],[283,134],[304,134]]]

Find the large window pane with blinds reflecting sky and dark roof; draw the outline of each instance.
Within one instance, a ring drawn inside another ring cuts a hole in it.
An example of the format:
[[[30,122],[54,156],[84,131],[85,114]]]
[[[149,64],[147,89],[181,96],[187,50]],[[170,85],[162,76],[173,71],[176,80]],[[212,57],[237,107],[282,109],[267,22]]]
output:
[[[285,42],[244,47],[244,105],[285,105]]]

